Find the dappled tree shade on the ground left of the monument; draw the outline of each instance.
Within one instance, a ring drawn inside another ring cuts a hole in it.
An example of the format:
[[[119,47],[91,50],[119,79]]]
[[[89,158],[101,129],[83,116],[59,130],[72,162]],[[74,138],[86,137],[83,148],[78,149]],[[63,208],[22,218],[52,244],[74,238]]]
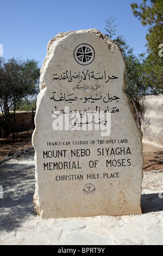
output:
[[[34,150],[16,161],[0,164],[0,176],[0,185],[3,187],[3,198],[0,199],[0,230],[10,231],[21,227],[28,218],[34,217]]]

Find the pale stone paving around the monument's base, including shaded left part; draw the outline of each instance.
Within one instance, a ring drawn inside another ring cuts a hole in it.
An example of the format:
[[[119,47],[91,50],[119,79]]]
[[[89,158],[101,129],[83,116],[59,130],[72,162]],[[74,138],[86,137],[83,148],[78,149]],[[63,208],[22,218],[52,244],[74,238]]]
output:
[[[142,215],[41,220],[34,173],[34,150],[0,164],[0,245],[163,245],[163,191],[143,190]]]

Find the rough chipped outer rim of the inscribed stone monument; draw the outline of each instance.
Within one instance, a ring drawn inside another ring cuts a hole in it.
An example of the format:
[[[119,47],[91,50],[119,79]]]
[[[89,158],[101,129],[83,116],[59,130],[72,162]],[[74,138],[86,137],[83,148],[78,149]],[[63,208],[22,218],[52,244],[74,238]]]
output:
[[[46,93],[47,85],[46,85],[46,82],[45,82],[45,74],[46,74],[47,68],[49,66],[49,63],[51,62],[51,59],[54,56],[55,47],[58,44],[61,44],[61,42],[68,35],[70,35],[70,34],[80,34],[80,33],[94,33],[94,34],[97,34],[99,36],[99,38],[102,38],[106,42],[106,44],[108,45],[109,50],[111,48],[118,48],[118,50],[121,52],[121,56],[122,56],[123,62],[125,64],[125,66],[126,66],[126,60],[124,59],[124,56],[123,56],[123,53],[122,53],[122,50],[121,50],[120,46],[118,46],[114,40],[109,39],[106,35],[104,35],[100,31],[98,31],[97,29],[91,28],[91,29],[83,29],[83,30],[79,30],[79,31],[69,31],[69,32],[59,33],[59,34],[55,35],[54,38],[51,39],[48,42],[48,45],[47,45],[46,58],[45,58],[45,60],[44,60],[44,62],[42,64],[42,67],[41,67],[41,70],[40,70],[40,94],[39,94],[39,97],[37,97],[37,109],[39,109],[39,105],[41,103],[41,99],[42,99],[43,95]],[[127,102],[128,102],[128,106],[130,108],[130,112],[133,115],[133,119],[135,120],[134,105],[128,99],[128,96],[127,96],[127,94],[125,92],[126,87],[127,87],[126,70],[124,69],[122,90],[123,90],[123,93],[127,97]],[[37,111],[36,111],[36,115],[35,115],[35,130],[34,130],[33,136],[32,136],[32,144],[33,145],[34,145],[34,135],[35,135],[35,132],[37,130],[36,117],[37,117]],[[136,120],[135,120],[135,123],[136,123]],[[137,123],[136,123],[136,125],[137,125]],[[139,129],[138,126],[137,126],[137,130],[139,131],[140,138],[141,138],[141,144],[142,144],[142,138],[143,138],[142,131]],[[143,159],[142,151],[143,151],[143,145],[142,145],[142,149],[141,149],[141,156],[142,156],[142,159]],[[36,151],[35,151],[35,157],[36,157]],[[142,168],[143,168],[143,162],[142,162]],[[143,181],[143,171],[142,171],[142,168],[141,168],[142,175],[141,175],[141,188],[140,188],[141,191],[142,191],[142,181]],[[36,181],[36,187],[37,187],[37,181]],[[140,194],[140,209],[141,209],[141,194]],[[35,214],[38,214],[39,216],[42,216],[42,210],[41,210],[40,205],[39,205],[37,189],[35,190],[35,194],[34,194],[34,210],[35,210]],[[142,210],[141,210],[140,214],[142,214]]]

